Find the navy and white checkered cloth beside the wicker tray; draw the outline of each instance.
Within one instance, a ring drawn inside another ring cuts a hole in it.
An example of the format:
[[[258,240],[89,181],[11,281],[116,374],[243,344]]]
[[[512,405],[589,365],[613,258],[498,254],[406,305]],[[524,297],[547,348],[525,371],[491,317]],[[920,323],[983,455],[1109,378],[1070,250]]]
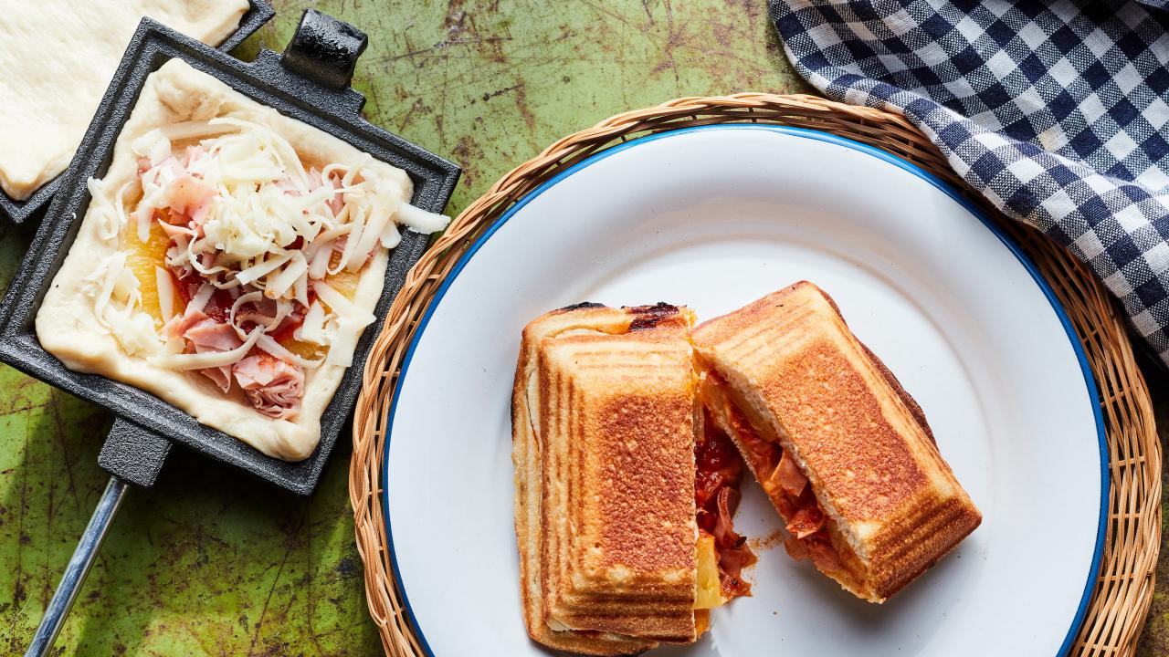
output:
[[[898,111],[1087,263],[1169,365],[1169,0],[770,0],[798,72]]]

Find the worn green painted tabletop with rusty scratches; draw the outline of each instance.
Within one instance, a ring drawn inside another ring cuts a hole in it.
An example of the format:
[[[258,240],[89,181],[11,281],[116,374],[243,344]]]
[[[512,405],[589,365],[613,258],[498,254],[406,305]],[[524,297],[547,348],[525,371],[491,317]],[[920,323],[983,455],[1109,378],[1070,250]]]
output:
[[[237,55],[283,49],[307,4],[276,5],[276,19]],[[369,34],[355,76],[369,120],[464,167],[451,214],[514,164],[609,115],[678,96],[808,90],[783,58],[763,0],[318,7]],[[7,286],[30,235],[0,230]],[[1155,396],[1169,397],[1169,379],[1149,374]],[[1158,404],[1158,419],[1167,413]],[[0,368],[0,652],[23,650],[105,485],[97,452],[110,421]],[[126,498],[58,652],[376,653],[344,443],[311,499],[173,450],[159,483]],[[1140,655],[1165,653],[1169,595],[1158,593]]]

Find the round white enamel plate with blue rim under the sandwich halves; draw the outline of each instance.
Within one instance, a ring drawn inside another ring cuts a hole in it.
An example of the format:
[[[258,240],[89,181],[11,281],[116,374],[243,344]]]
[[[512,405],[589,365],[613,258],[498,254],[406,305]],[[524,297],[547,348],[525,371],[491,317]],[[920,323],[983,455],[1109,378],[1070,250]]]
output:
[[[512,525],[523,326],[576,302],[686,304],[699,319],[795,281],[921,403],[984,520],[883,606],[760,548],[754,596],[698,644],[650,655],[1057,655],[1104,542],[1095,386],[1033,265],[912,165],[819,132],[690,129],[624,144],[518,203],[447,279],[402,371],[386,518],[409,613],[440,657],[527,656]],[[736,527],[780,520],[754,480]],[[777,544],[779,541],[767,541]]]

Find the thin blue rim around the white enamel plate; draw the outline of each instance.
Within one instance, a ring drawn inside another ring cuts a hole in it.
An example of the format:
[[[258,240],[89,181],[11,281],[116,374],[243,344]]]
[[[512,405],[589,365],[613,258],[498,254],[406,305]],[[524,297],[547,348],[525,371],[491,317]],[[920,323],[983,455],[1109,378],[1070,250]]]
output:
[[[491,238],[491,236],[496,233],[496,230],[499,230],[499,228],[503,224],[507,223],[507,220],[514,216],[520,208],[526,206],[533,199],[535,199],[537,196],[539,196],[540,194],[542,194],[544,192],[546,192],[548,188],[556,185],[561,180],[576,173],[577,171],[592,166],[603,160],[604,158],[608,158],[609,155],[620,153],[621,151],[632,148],[635,146],[645,144],[648,141],[656,141],[658,139],[669,139],[670,137],[676,137],[678,134],[684,134],[687,132],[696,132],[699,130],[704,131],[765,130],[769,132],[789,134],[793,137],[802,137],[804,139],[814,139],[816,141],[826,141],[829,144],[836,144],[838,146],[852,148],[853,151],[859,151],[862,153],[872,155],[877,159],[894,165],[898,168],[907,171],[916,175],[918,178],[925,180],[926,182],[929,182],[931,185],[943,192],[947,196],[957,201],[957,203],[961,205],[963,208],[966,208],[967,212],[977,217],[978,221],[981,221],[983,226],[985,226],[996,237],[998,237],[998,241],[1002,242],[1003,245],[1007,247],[1007,249],[1010,250],[1012,255],[1015,255],[1015,257],[1019,261],[1023,268],[1026,269],[1028,274],[1031,275],[1031,278],[1036,282],[1036,284],[1039,285],[1039,289],[1043,290],[1044,296],[1047,298],[1047,303],[1051,304],[1051,309],[1056,312],[1056,316],[1059,317],[1059,321],[1060,324],[1063,324],[1064,331],[1067,333],[1067,338],[1072,343],[1072,348],[1075,351],[1077,359],[1079,359],[1080,371],[1084,373],[1084,383],[1087,386],[1088,396],[1093,401],[1092,412],[1097,423],[1097,438],[1099,440],[1100,443],[1100,519],[1097,526],[1095,552],[1092,555],[1092,568],[1088,570],[1087,583],[1085,583],[1084,594],[1080,596],[1080,604],[1075,610],[1075,616],[1072,618],[1072,625],[1071,628],[1068,628],[1067,634],[1064,637],[1064,642],[1059,646],[1059,651],[1057,652],[1058,656],[1067,655],[1072,648],[1072,642],[1075,641],[1075,634],[1079,630],[1080,623],[1084,622],[1084,615],[1087,613],[1088,609],[1088,601],[1092,599],[1092,589],[1095,586],[1097,575],[1100,572],[1100,560],[1104,556],[1104,541],[1108,521],[1108,486],[1109,486],[1108,441],[1104,430],[1104,416],[1101,415],[1100,412],[1100,395],[1097,392],[1095,378],[1092,375],[1092,368],[1088,366],[1087,355],[1084,353],[1084,346],[1080,345],[1079,338],[1075,337],[1075,330],[1072,327],[1072,321],[1067,317],[1067,312],[1064,310],[1064,306],[1059,303],[1059,299],[1056,297],[1056,292],[1051,289],[1051,285],[1047,284],[1047,281],[1039,272],[1038,268],[1035,265],[1033,262],[1031,262],[1031,258],[1023,253],[1023,250],[1018,247],[1018,244],[1016,244],[1015,241],[1010,236],[1008,236],[989,217],[983,215],[982,212],[980,212],[974,203],[971,203],[968,199],[962,196],[956,189],[954,189],[949,184],[945,182],[942,179],[922,170],[918,165],[914,165],[907,160],[902,160],[901,158],[886,153],[885,151],[881,151],[879,148],[860,144],[859,141],[853,141],[851,139],[845,139],[843,137],[837,137],[835,134],[829,134],[826,132],[821,132],[818,130],[808,130],[804,127],[790,127],[786,125],[758,125],[758,124],[700,125],[693,127],[683,127],[669,132],[659,132],[657,134],[650,134],[646,137],[625,141],[623,144],[617,144],[616,146],[606,148],[604,151],[601,151],[600,153],[596,153],[586,160],[576,162],[575,165],[558,173],[554,178],[552,178],[551,180],[544,182],[542,185],[530,192],[523,199],[517,201],[516,205],[509,208],[503,216],[497,219],[496,222],[492,223],[483,233],[483,235],[479,236],[479,238],[476,240],[475,243],[466,249],[466,253],[464,253],[463,256],[458,258],[458,262],[455,263],[455,267],[451,269],[450,274],[438,286],[438,290],[435,292],[434,299],[430,302],[430,305],[427,307],[426,313],[419,321],[419,327],[417,331],[414,333],[414,339],[410,340],[410,346],[406,351],[406,358],[402,359],[401,373],[397,376],[397,386],[394,388],[394,399],[390,402],[389,407],[389,417],[387,417],[386,420],[386,444],[382,448],[383,451],[382,451],[382,471],[381,471],[382,491],[383,491],[381,499],[382,514],[386,518],[386,541],[388,544],[387,547],[389,548],[390,565],[393,566],[394,569],[393,572],[394,582],[397,585],[397,590],[402,594],[402,603],[406,607],[406,614],[410,618],[410,624],[414,627],[414,630],[419,637],[419,643],[422,646],[422,650],[424,650],[426,653],[429,655],[430,657],[435,657],[434,651],[430,650],[429,643],[427,643],[427,638],[422,631],[422,628],[419,625],[417,618],[414,617],[414,609],[410,607],[409,597],[406,594],[406,587],[402,585],[402,578],[399,574],[397,556],[394,553],[394,534],[390,531],[390,521],[389,521],[389,496],[385,495],[386,491],[385,483],[388,477],[389,441],[393,437],[394,415],[397,412],[399,393],[401,392],[402,383],[406,380],[406,373],[410,367],[410,360],[414,358],[414,350],[417,348],[419,340],[422,338],[422,333],[426,331],[427,324],[429,324],[430,321],[430,317],[434,314],[435,309],[438,307],[438,304],[442,303],[442,299],[447,295],[447,290],[450,288],[451,283],[455,282],[455,278],[457,278],[463,268],[466,267],[466,263],[470,262],[472,257],[475,257],[475,254],[483,247],[484,243],[486,243],[487,240]]]

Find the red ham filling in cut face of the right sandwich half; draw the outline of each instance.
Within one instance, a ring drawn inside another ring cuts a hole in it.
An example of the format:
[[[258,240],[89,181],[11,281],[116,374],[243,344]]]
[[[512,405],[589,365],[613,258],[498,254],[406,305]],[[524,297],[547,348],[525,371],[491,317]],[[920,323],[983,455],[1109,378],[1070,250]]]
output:
[[[788,538],[783,547],[788,554],[796,560],[810,558],[824,572],[845,570],[832,546],[828,517],[798,464],[777,441],[768,440],[755,430],[746,414],[729,399],[727,386],[718,374],[708,372],[706,375],[710,387],[704,387],[704,390],[713,389],[721,397],[707,399],[707,402],[717,403],[724,413],[760,484],[787,523]]]

